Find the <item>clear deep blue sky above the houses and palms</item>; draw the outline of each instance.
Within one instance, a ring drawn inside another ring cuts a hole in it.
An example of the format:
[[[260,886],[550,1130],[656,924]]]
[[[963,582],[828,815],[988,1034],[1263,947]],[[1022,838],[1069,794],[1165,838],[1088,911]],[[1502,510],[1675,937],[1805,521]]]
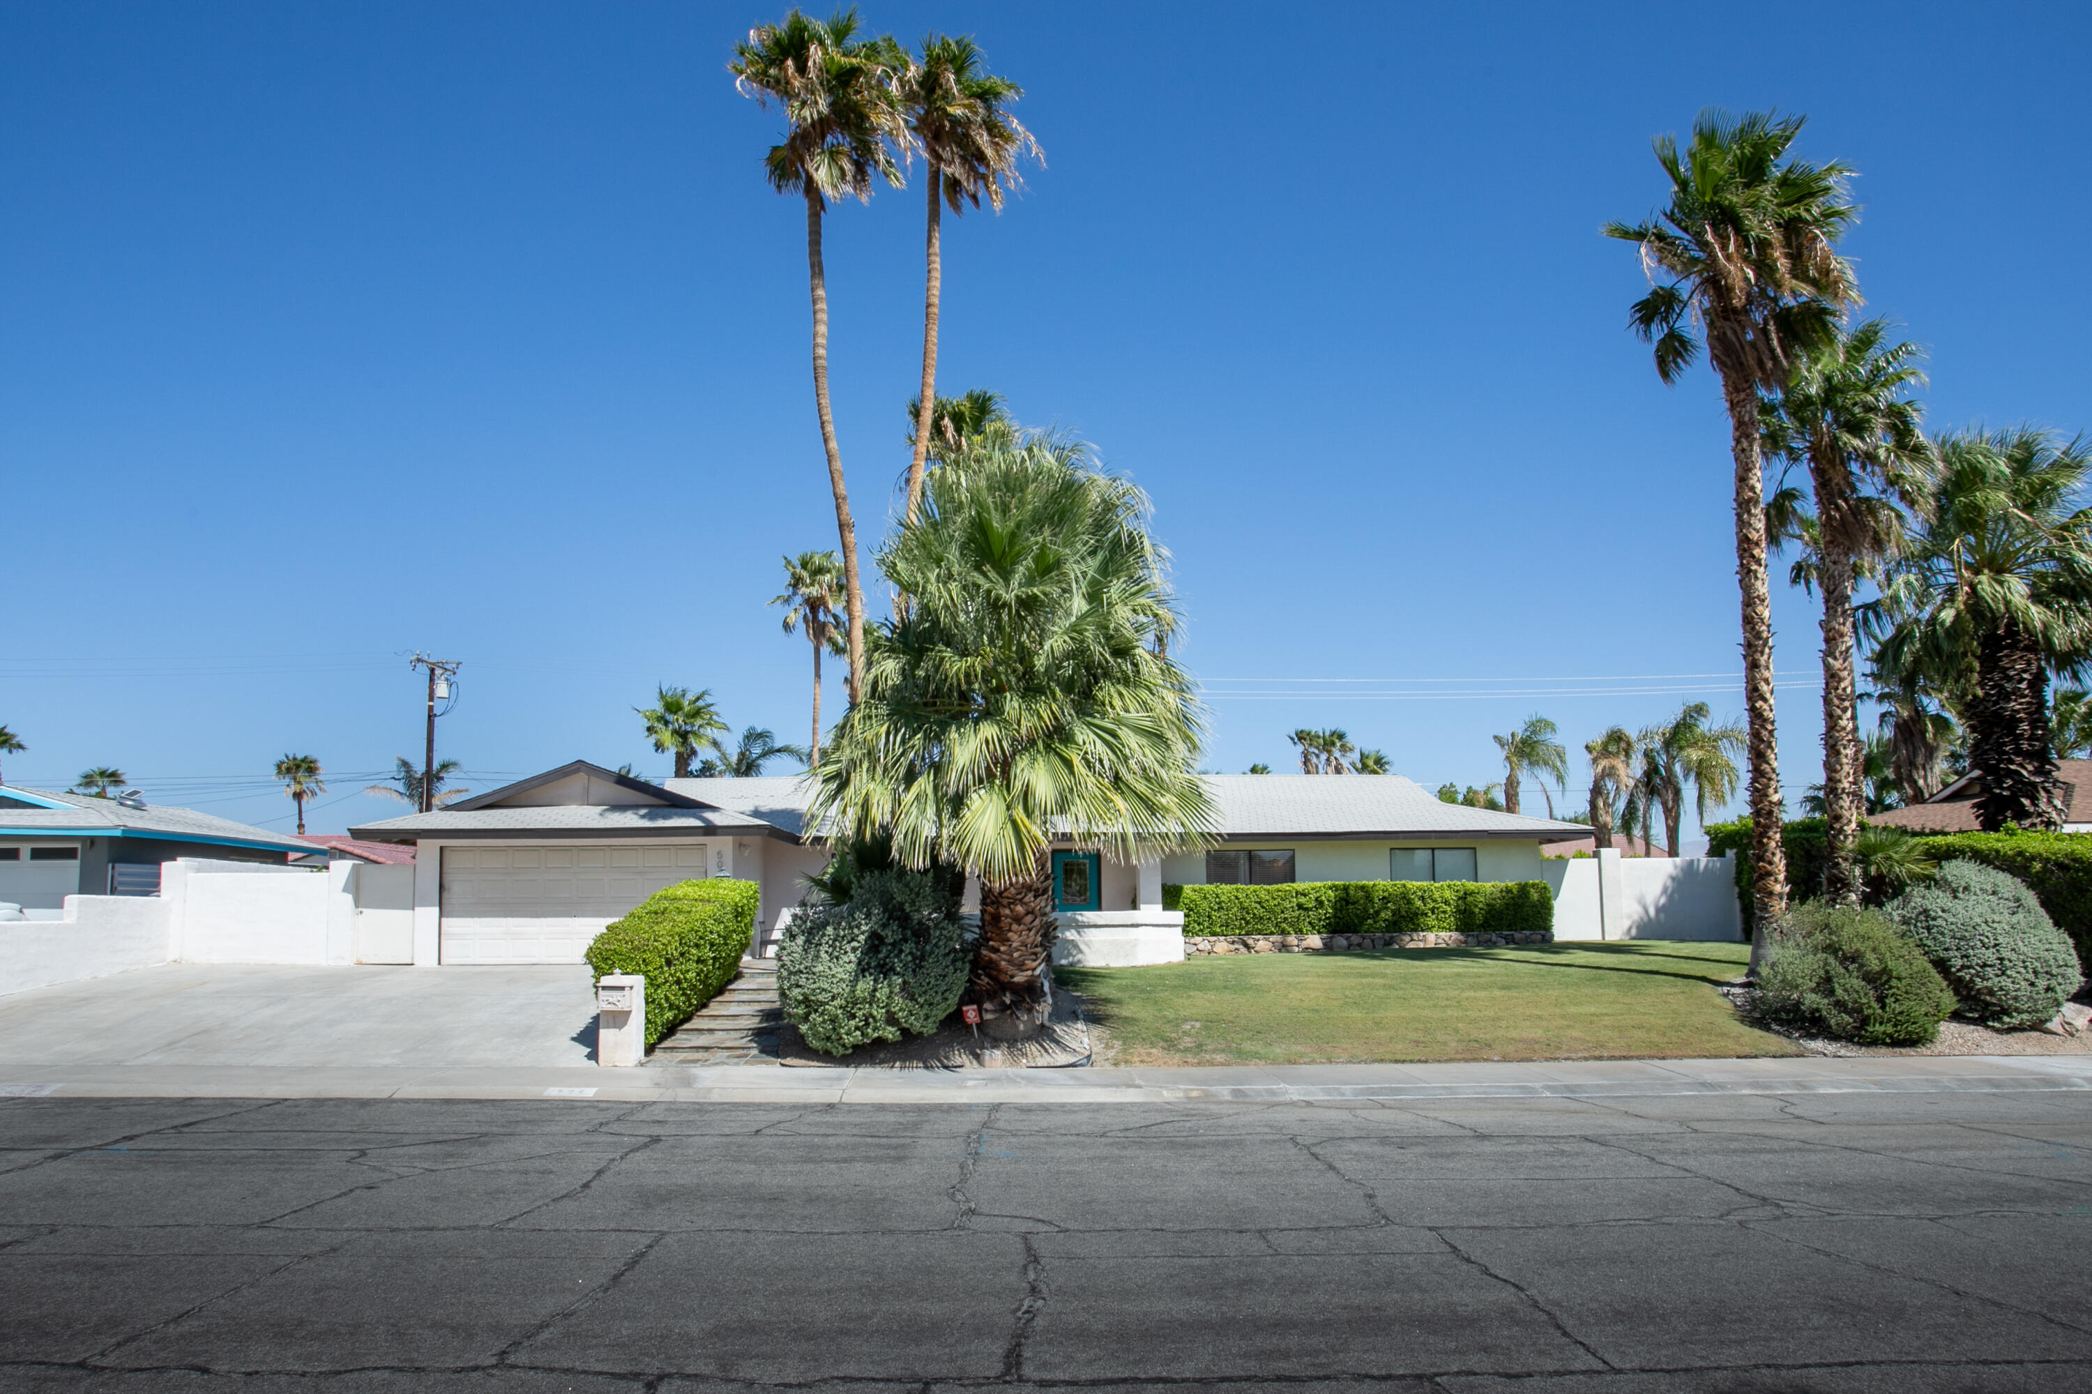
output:
[[[287,829],[268,766],[310,751],[314,831],[402,812],[354,789],[418,758],[414,649],[464,661],[441,754],[475,787],[665,770],[655,682],[803,741],[808,645],[764,605],[780,553],[835,546],[803,216],[724,71],[780,13],[0,4],[6,779],[115,764]],[[2075,6],[1774,4],[1753,42],[1630,6],[864,19],[975,33],[1027,88],[1048,165],[946,224],[941,385],[1151,492],[1211,768],[1341,724],[1481,783],[1529,712],[1571,747],[1741,712],[1715,385],[1657,383],[1598,237],[1705,105],[1803,111],[1801,151],[1862,172],[1847,251],[1931,347],[1935,423],[2092,427]],[[828,220],[866,536],[906,467],[920,218],[910,188]],[[1810,601],[1776,622],[1799,791]]]

